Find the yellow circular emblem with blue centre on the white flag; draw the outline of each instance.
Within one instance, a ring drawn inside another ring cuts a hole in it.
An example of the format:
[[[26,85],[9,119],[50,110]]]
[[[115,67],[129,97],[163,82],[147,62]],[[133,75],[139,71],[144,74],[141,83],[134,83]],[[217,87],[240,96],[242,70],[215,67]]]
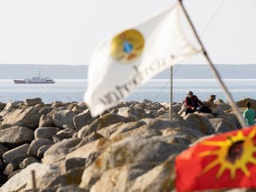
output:
[[[139,31],[128,29],[116,35],[111,42],[111,55],[114,60],[128,63],[137,59],[144,48],[144,38]]]

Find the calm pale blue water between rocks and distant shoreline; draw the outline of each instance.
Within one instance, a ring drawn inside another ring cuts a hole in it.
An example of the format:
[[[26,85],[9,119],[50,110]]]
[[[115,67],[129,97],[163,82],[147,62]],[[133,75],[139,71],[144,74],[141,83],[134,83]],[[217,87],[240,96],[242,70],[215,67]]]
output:
[[[226,79],[234,100],[256,99],[256,79]],[[170,80],[152,79],[142,85],[127,100],[170,101]],[[14,84],[11,79],[0,79],[0,101],[26,100],[40,97],[44,103],[82,101],[87,80],[56,79],[55,84]],[[193,91],[200,100],[216,94],[217,99],[227,101],[220,84],[215,79],[173,79],[173,102],[185,99]]]

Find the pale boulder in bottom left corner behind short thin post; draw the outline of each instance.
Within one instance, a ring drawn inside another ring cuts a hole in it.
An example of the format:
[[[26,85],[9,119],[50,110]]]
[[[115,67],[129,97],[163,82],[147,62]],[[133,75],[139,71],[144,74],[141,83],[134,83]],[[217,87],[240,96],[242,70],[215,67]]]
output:
[[[52,164],[29,164],[4,183],[0,192],[25,192],[33,189],[32,171],[35,171],[36,187],[44,189],[58,176],[58,166]]]

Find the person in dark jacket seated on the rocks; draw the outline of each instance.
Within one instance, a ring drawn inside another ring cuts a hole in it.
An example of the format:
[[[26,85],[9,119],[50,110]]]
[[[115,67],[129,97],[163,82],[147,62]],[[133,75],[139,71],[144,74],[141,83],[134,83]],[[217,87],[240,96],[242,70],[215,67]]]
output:
[[[188,92],[188,97],[185,99],[185,106],[186,109],[186,115],[188,113],[194,113],[196,111],[196,108],[199,108],[200,106],[204,106],[204,103],[199,100],[196,95],[193,94],[193,92]]]

